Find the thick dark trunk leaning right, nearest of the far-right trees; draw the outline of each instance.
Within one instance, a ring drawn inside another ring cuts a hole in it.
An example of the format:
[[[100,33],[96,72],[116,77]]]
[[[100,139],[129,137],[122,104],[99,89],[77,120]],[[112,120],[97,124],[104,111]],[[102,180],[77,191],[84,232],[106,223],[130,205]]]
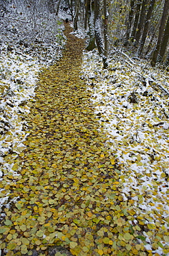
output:
[[[161,17],[161,24],[159,26],[159,37],[158,37],[158,40],[157,40],[157,45],[156,45],[155,51],[152,55],[152,61],[151,61],[152,66],[155,66],[155,64],[157,62],[157,56],[159,54],[159,49],[160,49],[160,46],[161,46],[161,39],[163,37],[163,30],[165,28],[166,19],[167,19],[167,16],[168,16],[168,8],[169,8],[169,0],[166,0],[165,3],[164,3],[164,6],[163,6],[163,15]]]

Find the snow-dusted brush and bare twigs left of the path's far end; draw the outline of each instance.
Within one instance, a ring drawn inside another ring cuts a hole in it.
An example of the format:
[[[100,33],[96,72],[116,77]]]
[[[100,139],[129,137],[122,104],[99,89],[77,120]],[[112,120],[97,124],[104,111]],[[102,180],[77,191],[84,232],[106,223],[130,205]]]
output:
[[[63,46],[63,25],[47,1],[1,3],[0,44],[6,51],[29,54],[39,63],[57,60]]]

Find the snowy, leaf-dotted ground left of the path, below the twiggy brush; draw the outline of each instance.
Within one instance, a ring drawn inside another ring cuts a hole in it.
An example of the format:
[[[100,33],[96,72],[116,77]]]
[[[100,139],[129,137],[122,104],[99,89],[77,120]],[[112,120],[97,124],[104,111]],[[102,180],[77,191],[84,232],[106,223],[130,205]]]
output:
[[[31,60],[29,55],[7,55],[4,49],[1,51],[0,65],[0,181],[3,181],[7,174],[19,175],[12,167],[18,154],[25,148],[23,141],[28,135],[23,131],[26,122],[22,120],[22,114],[29,113],[26,102],[34,97],[40,65],[36,60]],[[0,190],[1,196],[2,191],[3,188]],[[0,209],[2,205],[9,206],[8,196],[1,197]]]

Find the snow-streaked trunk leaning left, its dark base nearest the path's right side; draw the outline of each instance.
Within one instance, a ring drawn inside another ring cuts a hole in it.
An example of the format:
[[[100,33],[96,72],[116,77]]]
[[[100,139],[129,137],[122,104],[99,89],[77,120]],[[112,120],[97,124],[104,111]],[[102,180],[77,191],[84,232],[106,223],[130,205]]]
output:
[[[94,0],[94,7],[95,7],[95,22],[94,22],[94,24],[95,24],[95,39],[96,39],[99,55],[101,55],[101,57],[103,58],[103,68],[107,68],[108,67],[107,57],[104,55],[103,40],[101,37],[99,0]]]

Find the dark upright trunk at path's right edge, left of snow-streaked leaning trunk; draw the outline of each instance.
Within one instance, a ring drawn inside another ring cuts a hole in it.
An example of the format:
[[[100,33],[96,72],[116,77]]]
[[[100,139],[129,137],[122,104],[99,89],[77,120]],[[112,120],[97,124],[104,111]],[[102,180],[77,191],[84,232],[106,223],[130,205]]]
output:
[[[88,26],[89,26],[89,42],[88,46],[86,47],[87,51],[92,51],[96,48],[95,44],[95,27],[94,27],[94,2],[90,2],[90,0],[87,0],[86,2],[86,8],[87,8],[87,15],[88,15]]]

